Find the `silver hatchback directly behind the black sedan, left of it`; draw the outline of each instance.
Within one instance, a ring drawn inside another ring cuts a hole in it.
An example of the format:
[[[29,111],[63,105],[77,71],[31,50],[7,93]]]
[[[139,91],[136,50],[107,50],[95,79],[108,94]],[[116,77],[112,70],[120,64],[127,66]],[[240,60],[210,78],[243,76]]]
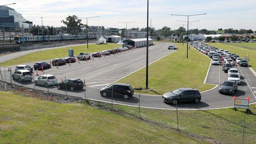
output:
[[[56,77],[51,74],[45,74],[35,79],[35,85],[44,85],[45,87],[47,87],[47,85],[57,85],[57,83]]]

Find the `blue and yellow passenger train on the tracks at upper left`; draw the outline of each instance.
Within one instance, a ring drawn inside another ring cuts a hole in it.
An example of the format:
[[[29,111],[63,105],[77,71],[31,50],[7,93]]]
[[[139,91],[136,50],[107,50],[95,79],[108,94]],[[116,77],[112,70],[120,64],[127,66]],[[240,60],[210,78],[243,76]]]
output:
[[[89,39],[96,39],[96,35],[88,35]],[[44,35],[44,36],[24,36],[24,42],[43,42],[43,41],[67,41],[67,40],[77,40],[77,39],[87,39],[87,35]],[[14,42],[20,44],[23,42],[22,36],[15,36]]]

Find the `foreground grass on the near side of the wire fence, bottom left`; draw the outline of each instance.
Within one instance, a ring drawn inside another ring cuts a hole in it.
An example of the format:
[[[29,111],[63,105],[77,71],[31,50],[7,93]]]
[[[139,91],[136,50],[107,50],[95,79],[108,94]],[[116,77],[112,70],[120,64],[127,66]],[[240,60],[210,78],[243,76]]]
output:
[[[0,92],[0,143],[209,143],[87,104],[61,104]]]

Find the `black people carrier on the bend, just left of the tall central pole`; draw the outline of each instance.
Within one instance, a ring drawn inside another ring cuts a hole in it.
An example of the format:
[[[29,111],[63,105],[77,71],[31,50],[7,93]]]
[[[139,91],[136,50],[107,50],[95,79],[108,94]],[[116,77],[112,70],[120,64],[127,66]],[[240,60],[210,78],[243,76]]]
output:
[[[122,96],[124,99],[134,95],[134,89],[131,85],[126,83],[115,83],[109,87],[103,87],[100,90],[100,94],[104,97],[111,96],[113,90],[113,96]]]

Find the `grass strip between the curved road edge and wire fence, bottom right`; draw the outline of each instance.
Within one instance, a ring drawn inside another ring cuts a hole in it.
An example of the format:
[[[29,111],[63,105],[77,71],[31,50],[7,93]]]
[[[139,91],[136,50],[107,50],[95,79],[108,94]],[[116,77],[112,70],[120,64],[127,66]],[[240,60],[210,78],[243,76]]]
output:
[[[232,99],[231,99],[232,100]],[[164,103],[163,103],[164,104]],[[252,113],[245,109],[232,108],[208,111],[178,111],[179,129],[201,135],[224,144],[239,144],[243,135],[243,116],[245,116],[245,144],[256,143],[256,109],[250,105]],[[139,117],[138,108],[114,105],[114,109]],[[159,109],[140,109],[141,118],[177,128],[176,111]]]

